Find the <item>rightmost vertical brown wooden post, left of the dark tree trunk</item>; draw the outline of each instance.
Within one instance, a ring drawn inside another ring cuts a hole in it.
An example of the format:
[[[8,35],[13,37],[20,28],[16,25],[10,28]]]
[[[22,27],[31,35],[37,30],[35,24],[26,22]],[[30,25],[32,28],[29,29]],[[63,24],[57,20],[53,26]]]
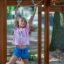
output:
[[[49,11],[46,3],[47,0],[44,0],[44,64],[49,64]]]

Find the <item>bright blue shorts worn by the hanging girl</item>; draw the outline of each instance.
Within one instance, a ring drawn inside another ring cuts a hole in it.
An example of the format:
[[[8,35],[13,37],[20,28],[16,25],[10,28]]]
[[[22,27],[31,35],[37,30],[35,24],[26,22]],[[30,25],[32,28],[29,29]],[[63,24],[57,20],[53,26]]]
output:
[[[14,48],[13,56],[22,59],[28,59],[28,48]]]

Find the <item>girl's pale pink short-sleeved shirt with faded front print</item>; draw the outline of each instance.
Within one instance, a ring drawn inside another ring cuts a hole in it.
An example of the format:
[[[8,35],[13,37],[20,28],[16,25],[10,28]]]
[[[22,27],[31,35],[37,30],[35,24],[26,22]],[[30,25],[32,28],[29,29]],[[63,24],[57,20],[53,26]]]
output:
[[[29,45],[29,26],[14,29],[13,44]]]

